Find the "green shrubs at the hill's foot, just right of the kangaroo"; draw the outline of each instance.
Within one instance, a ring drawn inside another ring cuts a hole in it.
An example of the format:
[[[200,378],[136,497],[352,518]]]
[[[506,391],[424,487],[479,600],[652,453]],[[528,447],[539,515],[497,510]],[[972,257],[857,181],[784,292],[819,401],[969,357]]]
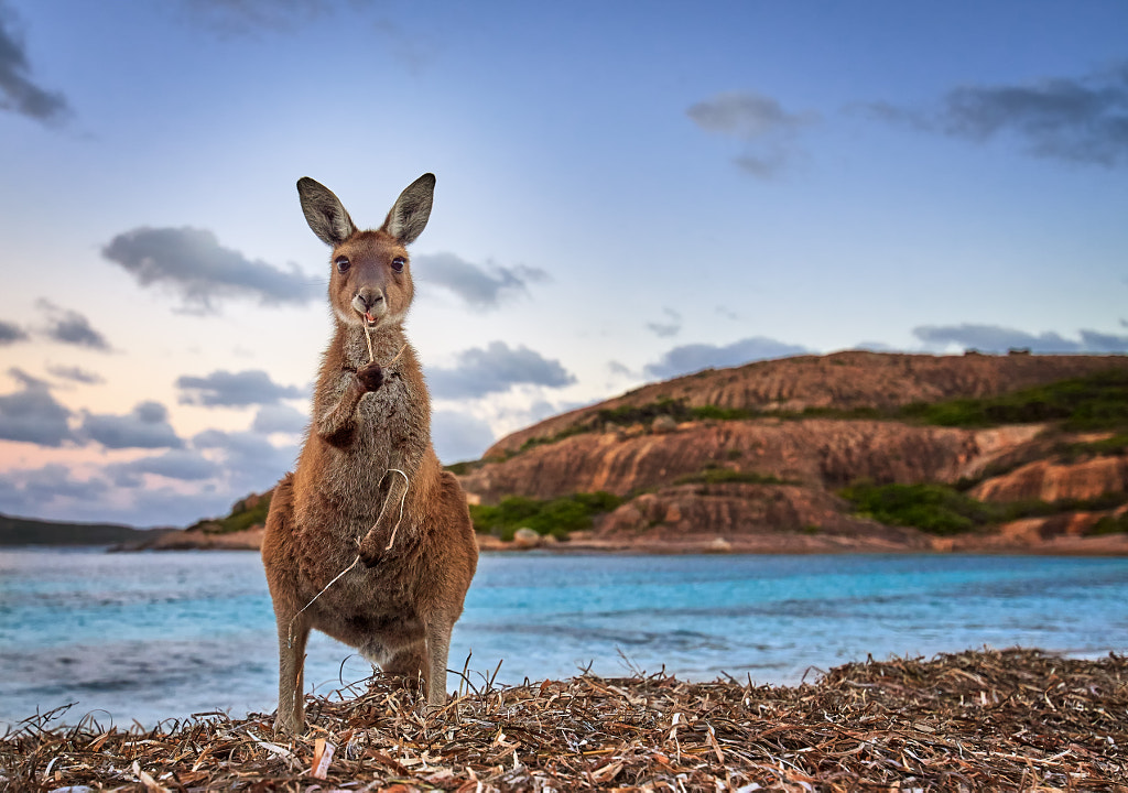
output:
[[[552,501],[514,495],[496,506],[470,504],[470,518],[475,531],[492,534],[504,540],[513,539],[513,534],[520,528],[566,539],[572,531],[590,528],[592,518],[610,512],[619,503],[622,499],[617,495],[602,491],[573,493]]]

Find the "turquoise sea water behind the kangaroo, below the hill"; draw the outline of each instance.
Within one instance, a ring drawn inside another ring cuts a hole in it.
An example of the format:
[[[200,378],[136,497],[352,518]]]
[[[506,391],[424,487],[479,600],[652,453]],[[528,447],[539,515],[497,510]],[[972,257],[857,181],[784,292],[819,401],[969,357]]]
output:
[[[1005,556],[484,556],[455,628],[481,684],[632,669],[796,682],[851,660],[969,647],[1128,652],[1128,559]],[[0,552],[0,724],[76,703],[104,725],[276,697],[257,554]],[[370,667],[315,634],[309,688]],[[449,688],[457,687],[452,675]]]

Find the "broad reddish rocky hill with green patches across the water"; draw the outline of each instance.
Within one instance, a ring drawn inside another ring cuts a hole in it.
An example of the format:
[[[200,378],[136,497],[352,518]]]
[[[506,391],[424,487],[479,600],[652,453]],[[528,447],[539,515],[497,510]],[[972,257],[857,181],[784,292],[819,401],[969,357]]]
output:
[[[1125,553],[1126,447],[1122,355],[852,351],[653,384],[455,469],[502,536],[609,494],[588,547]]]

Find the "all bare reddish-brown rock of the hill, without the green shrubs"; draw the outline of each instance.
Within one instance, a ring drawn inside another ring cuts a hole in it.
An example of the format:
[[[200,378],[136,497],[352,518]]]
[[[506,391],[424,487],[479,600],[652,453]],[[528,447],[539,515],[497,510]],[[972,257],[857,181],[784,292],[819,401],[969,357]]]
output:
[[[1077,535],[1096,518],[1077,516],[1015,523],[992,537],[929,537],[852,516],[848,504],[834,494],[860,479],[954,484],[992,469],[1012,470],[986,479],[971,495],[988,501],[1056,501],[1128,490],[1128,464],[1121,458],[1054,462],[1052,438],[1040,438],[1046,425],[967,430],[893,421],[770,417],[676,424],[663,416],[650,425],[552,439],[590,425],[602,408],[637,407],[661,399],[791,414],[808,407],[890,407],[994,396],[1114,367],[1128,368],[1128,359],[846,352],[706,371],[647,386],[509,435],[487,451],[490,461],[460,479],[481,503],[496,503],[509,495],[553,499],[594,491],[623,496],[627,501],[600,518],[584,537],[587,543],[608,547],[689,544],[696,549],[724,550],[971,550],[1026,548],[1032,541],[1061,537],[1089,540],[1093,538]],[[549,442],[522,450],[534,439]],[[717,469],[744,481],[699,481]],[[687,481],[694,477],[698,481]],[[1119,540],[1102,541],[1111,547]]]

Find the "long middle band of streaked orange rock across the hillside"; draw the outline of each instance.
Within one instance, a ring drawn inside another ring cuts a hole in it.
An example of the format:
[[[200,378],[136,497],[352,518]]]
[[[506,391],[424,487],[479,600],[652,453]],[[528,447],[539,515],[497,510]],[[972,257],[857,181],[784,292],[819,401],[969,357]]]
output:
[[[675,432],[583,433],[488,462],[461,477],[483,503],[506,495],[554,499],[608,491],[626,496],[722,468],[813,487],[952,483],[1021,446],[1039,426],[961,430],[880,421],[688,422]]]

